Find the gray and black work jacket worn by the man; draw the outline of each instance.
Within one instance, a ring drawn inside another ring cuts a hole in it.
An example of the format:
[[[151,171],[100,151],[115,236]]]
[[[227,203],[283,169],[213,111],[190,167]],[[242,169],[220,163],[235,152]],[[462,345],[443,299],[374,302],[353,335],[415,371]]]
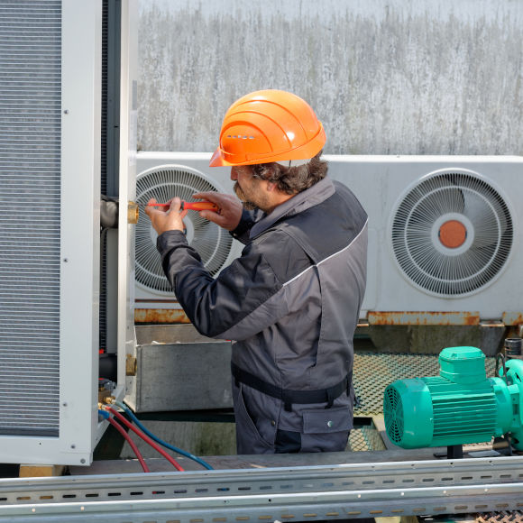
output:
[[[245,243],[242,256],[216,279],[178,231],[158,238],[163,269],[197,330],[234,340],[236,368],[281,390],[331,387],[353,369],[367,215],[349,188],[326,177],[270,215],[253,216],[243,212],[233,232]],[[280,399],[249,393],[248,410],[265,440],[277,428],[301,432],[307,424],[301,410],[310,406],[289,411]],[[352,400],[343,403],[338,425],[352,427]]]

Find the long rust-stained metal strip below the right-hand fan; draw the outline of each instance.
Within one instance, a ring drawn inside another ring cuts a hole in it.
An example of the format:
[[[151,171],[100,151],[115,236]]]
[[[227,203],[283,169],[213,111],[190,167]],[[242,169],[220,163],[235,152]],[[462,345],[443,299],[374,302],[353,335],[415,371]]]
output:
[[[427,326],[477,326],[480,313],[477,311],[433,312],[433,311],[369,311],[369,325],[427,325]]]

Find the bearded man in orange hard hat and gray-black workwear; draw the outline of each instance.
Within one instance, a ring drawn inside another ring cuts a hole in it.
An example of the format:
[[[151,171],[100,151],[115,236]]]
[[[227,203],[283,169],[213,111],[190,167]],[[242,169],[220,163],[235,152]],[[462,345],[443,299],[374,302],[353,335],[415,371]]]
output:
[[[147,206],[167,278],[190,321],[233,341],[238,454],[344,451],[353,427],[353,334],[365,291],[367,215],[326,176],[322,124],[280,90],[225,114],[210,166],[231,166],[233,195],[200,215],[244,243],[217,276],[183,234],[180,200]],[[150,204],[156,203],[151,200]]]

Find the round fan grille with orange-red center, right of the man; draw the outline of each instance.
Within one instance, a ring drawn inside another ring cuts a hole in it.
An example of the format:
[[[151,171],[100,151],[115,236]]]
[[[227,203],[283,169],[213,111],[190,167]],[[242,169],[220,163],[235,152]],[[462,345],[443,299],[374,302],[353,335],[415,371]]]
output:
[[[458,234],[444,240],[440,234],[447,230]],[[428,175],[411,188],[391,230],[396,261],[408,279],[445,297],[491,282],[509,257],[513,236],[503,197],[481,177],[454,171]]]

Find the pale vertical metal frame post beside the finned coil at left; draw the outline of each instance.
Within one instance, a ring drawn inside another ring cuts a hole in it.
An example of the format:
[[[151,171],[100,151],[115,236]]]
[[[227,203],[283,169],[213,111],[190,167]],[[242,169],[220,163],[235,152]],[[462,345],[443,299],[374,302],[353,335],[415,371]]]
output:
[[[26,463],[89,463],[97,440],[102,8],[65,0],[62,14],[60,441]]]

